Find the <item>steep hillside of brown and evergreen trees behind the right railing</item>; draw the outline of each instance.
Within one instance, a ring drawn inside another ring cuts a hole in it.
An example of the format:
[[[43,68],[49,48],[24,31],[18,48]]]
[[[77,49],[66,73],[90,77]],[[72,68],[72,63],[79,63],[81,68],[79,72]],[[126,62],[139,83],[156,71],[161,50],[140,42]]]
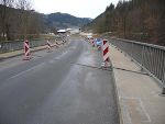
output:
[[[111,36],[165,45],[165,0],[112,3],[86,30]]]

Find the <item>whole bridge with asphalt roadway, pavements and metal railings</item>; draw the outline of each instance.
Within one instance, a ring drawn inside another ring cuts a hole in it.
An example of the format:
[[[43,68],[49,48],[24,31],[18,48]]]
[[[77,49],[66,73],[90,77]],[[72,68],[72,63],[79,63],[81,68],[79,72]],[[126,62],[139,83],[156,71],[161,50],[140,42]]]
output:
[[[164,124],[165,48],[107,40],[112,71],[78,35],[52,40],[52,53],[31,41],[29,61],[22,42],[1,44],[0,124]]]

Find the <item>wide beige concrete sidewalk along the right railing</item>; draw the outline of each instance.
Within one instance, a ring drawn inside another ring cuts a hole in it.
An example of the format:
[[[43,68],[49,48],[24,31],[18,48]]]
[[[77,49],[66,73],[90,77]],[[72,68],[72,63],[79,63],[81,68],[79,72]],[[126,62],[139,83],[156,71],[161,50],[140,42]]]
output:
[[[165,124],[165,97],[160,95],[162,88],[150,76],[141,74],[138,65],[112,46],[110,59],[113,65],[121,122]]]

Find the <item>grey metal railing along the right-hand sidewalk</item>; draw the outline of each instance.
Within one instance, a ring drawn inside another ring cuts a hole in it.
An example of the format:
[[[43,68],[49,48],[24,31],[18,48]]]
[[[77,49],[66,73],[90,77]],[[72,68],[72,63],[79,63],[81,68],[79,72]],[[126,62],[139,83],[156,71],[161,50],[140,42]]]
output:
[[[163,87],[162,93],[165,94],[165,47],[121,38],[109,41],[154,77]]]

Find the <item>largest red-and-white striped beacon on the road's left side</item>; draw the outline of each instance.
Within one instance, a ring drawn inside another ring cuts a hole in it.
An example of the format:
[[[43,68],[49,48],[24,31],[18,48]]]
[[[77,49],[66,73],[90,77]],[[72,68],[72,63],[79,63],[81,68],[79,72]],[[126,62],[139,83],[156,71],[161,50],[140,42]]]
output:
[[[24,58],[23,60],[29,60],[30,57],[30,42],[28,40],[24,41]]]

